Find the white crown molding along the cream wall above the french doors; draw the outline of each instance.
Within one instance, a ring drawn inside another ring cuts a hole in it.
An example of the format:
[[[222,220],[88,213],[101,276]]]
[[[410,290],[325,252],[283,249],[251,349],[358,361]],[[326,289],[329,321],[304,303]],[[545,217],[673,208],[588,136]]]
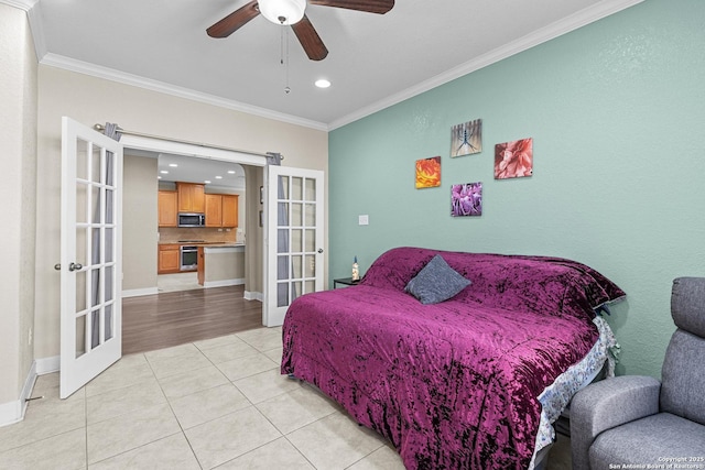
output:
[[[164,81],[152,80],[150,78],[140,77],[139,75],[127,74],[124,72],[116,70],[113,68],[102,67],[102,66],[90,64],[83,61],[76,61],[69,57],[65,57],[63,55],[57,55],[52,53],[45,54],[40,61],[40,64],[47,65],[51,67],[63,68],[65,70],[76,72],[84,75],[90,75],[93,77],[117,81],[117,83],[130,85],[133,87],[144,88],[151,91],[172,95],[178,98],[189,99],[192,101],[198,101],[206,105],[213,105],[220,108],[231,109],[235,111],[258,116],[260,118],[267,118],[267,119],[272,119],[274,121],[286,122],[289,124],[302,125],[304,128],[311,128],[318,131],[328,130],[328,127],[323,122],[312,121],[308,119],[300,118],[297,116],[285,114],[285,113],[272,111],[265,108],[246,105],[239,101],[219,98],[217,96],[194,91],[188,88],[182,88],[174,85],[170,85]]]

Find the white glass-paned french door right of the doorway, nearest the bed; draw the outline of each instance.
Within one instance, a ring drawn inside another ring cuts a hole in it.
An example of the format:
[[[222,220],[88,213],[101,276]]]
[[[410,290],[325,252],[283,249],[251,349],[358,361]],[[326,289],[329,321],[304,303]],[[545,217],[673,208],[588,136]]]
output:
[[[323,172],[268,166],[267,280],[263,323],[282,325],[303,294],[323,289]]]

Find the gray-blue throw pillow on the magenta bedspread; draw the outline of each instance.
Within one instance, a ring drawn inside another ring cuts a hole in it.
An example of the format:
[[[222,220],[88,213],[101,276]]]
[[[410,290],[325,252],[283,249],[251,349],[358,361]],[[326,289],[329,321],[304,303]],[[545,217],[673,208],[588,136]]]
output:
[[[404,291],[422,304],[429,305],[455,297],[470,284],[469,280],[458,274],[440,254],[436,254],[414,278],[409,281]]]

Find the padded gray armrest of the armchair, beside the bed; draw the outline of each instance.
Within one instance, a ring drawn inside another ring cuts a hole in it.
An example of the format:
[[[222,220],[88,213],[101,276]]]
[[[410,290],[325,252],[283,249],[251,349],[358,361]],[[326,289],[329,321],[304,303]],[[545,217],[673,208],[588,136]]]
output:
[[[573,470],[589,469],[588,450],[600,433],[659,413],[660,391],[651,376],[622,375],[577,392],[571,402]]]

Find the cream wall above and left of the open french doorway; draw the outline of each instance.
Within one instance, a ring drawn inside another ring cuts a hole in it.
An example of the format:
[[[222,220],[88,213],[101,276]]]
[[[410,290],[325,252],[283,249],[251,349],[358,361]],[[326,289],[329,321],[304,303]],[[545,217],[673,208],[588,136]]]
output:
[[[61,117],[252,152],[281,152],[284,165],[327,172],[327,133],[62,68],[39,66],[36,358],[59,353]],[[155,195],[156,197],[156,195]],[[327,237],[326,237],[327,240]]]

